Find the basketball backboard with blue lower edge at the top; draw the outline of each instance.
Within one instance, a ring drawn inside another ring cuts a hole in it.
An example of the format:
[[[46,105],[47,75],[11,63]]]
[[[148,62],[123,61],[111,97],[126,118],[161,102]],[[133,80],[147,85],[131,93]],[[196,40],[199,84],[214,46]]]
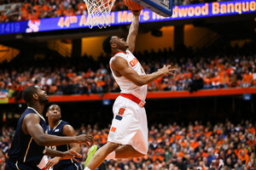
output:
[[[132,0],[135,3],[148,8],[156,14],[169,17],[172,16],[172,0]]]

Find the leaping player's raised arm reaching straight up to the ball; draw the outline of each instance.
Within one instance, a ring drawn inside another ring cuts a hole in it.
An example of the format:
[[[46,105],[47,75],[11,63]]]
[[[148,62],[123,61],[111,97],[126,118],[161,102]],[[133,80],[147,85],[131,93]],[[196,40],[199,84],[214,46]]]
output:
[[[138,14],[133,13],[133,19],[132,19],[131,26],[129,29],[129,34],[126,40],[129,46],[128,49],[131,51],[131,53],[133,53],[135,49],[138,28],[139,28],[139,12]]]

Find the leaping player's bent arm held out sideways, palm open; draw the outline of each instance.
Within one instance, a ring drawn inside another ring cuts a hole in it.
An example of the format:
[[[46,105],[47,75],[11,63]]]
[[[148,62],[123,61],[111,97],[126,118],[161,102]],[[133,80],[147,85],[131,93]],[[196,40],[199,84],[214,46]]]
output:
[[[137,86],[143,86],[149,82],[153,82],[159,77],[166,75],[175,75],[173,71],[175,69],[171,68],[171,65],[164,65],[163,68],[155,71],[154,73],[148,75],[138,75],[127,63],[127,61],[122,57],[115,57],[112,60],[111,68],[113,71],[119,72],[120,75],[124,76],[131,82],[135,83]]]

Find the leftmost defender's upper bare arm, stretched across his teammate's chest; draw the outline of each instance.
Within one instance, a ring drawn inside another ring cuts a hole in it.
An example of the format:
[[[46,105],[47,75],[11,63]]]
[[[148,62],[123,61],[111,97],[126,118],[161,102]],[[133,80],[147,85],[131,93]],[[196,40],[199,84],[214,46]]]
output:
[[[30,134],[38,145],[52,146],[61,144],[94,144],[93,137],[91,135],[81,134],[74,137],[59,137],[55,135],[49,135],[44,133],[43,127],[39,124],[40,118],[36,114],[28,114],[24,117],[22,122],[22,130],[26,134]]]

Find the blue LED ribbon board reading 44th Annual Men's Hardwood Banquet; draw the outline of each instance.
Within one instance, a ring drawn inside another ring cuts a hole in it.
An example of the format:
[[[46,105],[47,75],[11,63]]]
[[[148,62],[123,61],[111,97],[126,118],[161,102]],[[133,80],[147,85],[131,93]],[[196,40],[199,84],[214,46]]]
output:
[[[154,12],[143,9],[140,14],[140,23],[159,22],[167,20],[189,20],[195,18],[215,17],[255,13],[256,0],[226,1],[214,3],[197,3],[179,5],[172,8],[172,17],[163,17]],[[111,26],[131,24],[132,14],[129,10],[114,11],[110,13]],[[26,20],[0,24],[1,34],[31,33],[40,31],[57,31],[68,29],[88,28],[88,15],[74,15],[65,17],[48,18],[41,20]]]

